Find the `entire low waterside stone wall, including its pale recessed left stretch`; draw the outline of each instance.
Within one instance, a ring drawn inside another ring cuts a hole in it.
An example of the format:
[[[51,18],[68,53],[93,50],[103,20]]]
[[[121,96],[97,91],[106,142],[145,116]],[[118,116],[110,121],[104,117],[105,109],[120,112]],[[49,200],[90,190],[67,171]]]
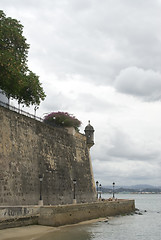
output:
[[[0,207],[0,229],[40,224],[62,226],[135,211],[134,200],[103,201],[59,206]]]

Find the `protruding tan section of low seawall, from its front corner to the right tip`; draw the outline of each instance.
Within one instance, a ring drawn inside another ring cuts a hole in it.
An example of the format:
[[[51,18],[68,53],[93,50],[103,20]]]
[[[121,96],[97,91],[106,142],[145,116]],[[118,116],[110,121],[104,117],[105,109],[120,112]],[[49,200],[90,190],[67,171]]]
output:
[[[134,200],[103,201],[95,203],[49,206],[40,208],[38,224],[58,227],[97,218],[107,218],[135,211]]]

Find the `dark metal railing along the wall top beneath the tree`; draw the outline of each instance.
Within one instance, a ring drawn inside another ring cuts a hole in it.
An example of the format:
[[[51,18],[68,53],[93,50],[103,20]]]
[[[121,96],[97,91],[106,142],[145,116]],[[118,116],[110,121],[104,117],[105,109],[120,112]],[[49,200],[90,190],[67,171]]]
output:
[[[34,115],[34,114],[25,112],[25,111],[23,111],[22,109],[19,109],[19,108],[16,108],[16,107],[14,107],[14,106],[11,106],[11,105],[9,105],[8,103],[4,103],[4,102],[0,101],[0,106],[5,107],[5,108],[8,108],[8,109],[11,110],[11,111],[14,111],[14,112],[17,112],[17,113],[19,113],[19,114],[25,115],[25,116],[27,116],[27,117],[34,118],[34,119],[36,119],[37,121],[43,122],[43,119],[42,119],[42,118],[37,117],[37,116]]]

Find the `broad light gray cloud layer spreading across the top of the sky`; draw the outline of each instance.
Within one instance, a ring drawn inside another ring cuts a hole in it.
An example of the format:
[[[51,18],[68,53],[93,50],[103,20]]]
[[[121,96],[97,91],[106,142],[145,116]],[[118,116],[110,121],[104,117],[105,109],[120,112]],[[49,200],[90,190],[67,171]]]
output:
[[[161,70],[158,2],[13,0],[1,5],[25,26],[31,59],[39,56],[36,64],[59,79],[80,74],[84,81],[113,84],[129,65]]]

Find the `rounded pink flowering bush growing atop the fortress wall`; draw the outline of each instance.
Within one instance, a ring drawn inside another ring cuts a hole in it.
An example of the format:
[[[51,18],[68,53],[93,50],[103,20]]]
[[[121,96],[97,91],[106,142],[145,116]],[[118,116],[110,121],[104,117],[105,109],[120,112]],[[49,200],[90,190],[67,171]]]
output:
[[[44,122],[56,127],[74,127],[79,131],[81,122],[67,112],[52,112],[44,117]]]

